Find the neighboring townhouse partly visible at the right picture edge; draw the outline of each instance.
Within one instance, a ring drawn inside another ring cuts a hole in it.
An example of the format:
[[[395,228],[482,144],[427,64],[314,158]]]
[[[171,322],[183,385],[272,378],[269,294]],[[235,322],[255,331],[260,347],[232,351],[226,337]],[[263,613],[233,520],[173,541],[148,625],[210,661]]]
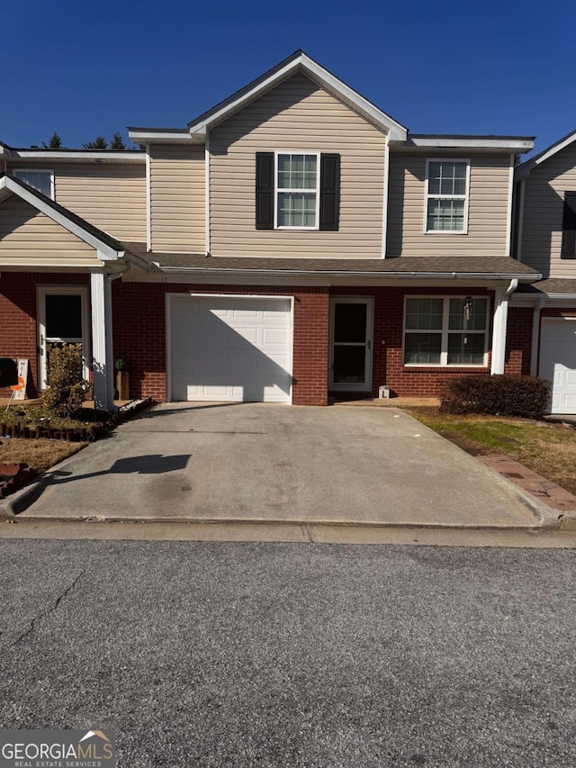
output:
[[[516,187],[516,256],[544,277],[511,309],[526,317],[525,372],[553,382],[553,413],[576,413],[576,132],[520,165]]]

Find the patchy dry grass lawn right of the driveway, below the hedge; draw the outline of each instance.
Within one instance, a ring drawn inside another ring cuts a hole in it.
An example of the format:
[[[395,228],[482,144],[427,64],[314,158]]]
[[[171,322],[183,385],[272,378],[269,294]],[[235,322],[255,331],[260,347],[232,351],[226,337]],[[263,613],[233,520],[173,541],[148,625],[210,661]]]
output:
[[[410,408],[415,419],[473,456],[508,454],[576,494],[576,429],[562,424]]]

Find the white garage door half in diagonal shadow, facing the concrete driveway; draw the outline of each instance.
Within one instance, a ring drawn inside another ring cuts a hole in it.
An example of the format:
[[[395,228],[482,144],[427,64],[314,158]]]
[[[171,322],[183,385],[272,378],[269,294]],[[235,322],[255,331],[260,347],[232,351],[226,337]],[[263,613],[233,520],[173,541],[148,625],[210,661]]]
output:
[[[291,402],[290,299],[169,301],[172,400]]]

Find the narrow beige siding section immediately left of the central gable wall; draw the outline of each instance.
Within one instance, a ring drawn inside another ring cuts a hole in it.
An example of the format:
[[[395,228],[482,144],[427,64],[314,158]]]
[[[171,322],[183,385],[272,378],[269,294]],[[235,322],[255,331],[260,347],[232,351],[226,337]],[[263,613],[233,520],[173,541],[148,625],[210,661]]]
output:
[[[205,174],[200,146],[150,146],[152,250],[206,249]]]

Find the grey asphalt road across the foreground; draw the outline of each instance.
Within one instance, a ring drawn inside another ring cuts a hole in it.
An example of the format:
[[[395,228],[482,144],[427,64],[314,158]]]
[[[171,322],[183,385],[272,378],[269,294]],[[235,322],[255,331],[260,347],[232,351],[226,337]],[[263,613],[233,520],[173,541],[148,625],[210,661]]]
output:
[[[576,764],[572,550],[0,542],[0,726],[119,766]]]

